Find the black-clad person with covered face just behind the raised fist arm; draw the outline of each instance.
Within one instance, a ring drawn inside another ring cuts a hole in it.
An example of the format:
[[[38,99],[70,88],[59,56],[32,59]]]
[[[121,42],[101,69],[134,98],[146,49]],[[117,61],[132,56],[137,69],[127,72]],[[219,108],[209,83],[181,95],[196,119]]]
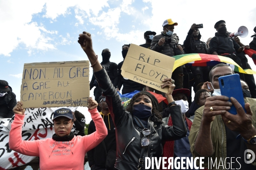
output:
[[[105,70],[108,73],[108,77],[111,79],[111,82],[113,83],[114,87],[116,87],[117,84],[114,84],[115,79],[117,77],[117,64],[114,62],[110,62],[109,59],[111,57],[111,52],[108,48],[105,48],[102,50],[102,62],[100,63],[103,67],[105,67]],[[94,99],[96,102],[99,103],[99,96],[102,95],[102,91],[100,90],[98,83],[93,75],[91,81],[90,81],[90,90],[96,86],[96,88],[93,91]]]

